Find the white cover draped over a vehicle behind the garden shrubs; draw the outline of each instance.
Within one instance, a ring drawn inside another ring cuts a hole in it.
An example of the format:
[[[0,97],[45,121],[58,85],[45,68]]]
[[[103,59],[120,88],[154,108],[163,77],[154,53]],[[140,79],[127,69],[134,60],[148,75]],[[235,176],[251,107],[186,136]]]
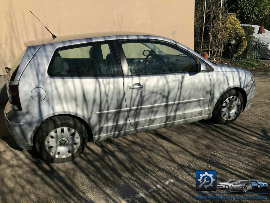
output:
[[[258,47],[259,47],[258,51],[261,54],[261,57],[270,59],[270,31],[268,31],[267,29],[264,29],[265,33],[257,34],[260,26],[246,25],[246,24],[243,24],[243,26],[252,26],[255,28],[254,33],[253,33],[254,39],[253,39],[252,44],[254,46],[258,42]]]

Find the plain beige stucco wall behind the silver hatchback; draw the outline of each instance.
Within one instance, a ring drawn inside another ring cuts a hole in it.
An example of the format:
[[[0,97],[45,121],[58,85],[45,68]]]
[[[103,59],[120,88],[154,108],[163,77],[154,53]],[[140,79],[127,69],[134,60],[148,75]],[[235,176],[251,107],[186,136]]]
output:
[[[0,0],[0,75],[24,42],[87,32],[138,31],[194,48],[194,0]]]

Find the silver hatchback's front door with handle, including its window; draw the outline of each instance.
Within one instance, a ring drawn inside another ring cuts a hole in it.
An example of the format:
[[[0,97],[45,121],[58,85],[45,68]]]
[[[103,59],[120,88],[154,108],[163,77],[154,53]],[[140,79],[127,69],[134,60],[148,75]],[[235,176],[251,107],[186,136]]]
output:
[[[210,77],[198,72],[193,54],[156,40],[121,40],[118,46],[125,57],[124,92],[132,127],[208,113]]]

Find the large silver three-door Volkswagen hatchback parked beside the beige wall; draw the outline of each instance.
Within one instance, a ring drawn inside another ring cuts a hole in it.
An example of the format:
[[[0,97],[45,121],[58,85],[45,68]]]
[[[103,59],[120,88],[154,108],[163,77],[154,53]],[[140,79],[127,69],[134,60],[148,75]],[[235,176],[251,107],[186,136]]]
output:
[[[20,147],[50,162],[76,158],[90,140],[210,118],[233,122],[256,90],[249,71],[151,34],[70,35],[25,45],[6,68],[4,116]]]

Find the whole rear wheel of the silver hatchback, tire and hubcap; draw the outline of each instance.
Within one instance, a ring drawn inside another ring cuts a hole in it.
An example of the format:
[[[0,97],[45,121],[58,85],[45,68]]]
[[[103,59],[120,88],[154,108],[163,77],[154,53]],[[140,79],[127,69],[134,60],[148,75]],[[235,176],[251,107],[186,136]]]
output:
[[[34,137],[36,151],[45,161],[63,163],[79,156],[87,144],[87,131],[75,118],[56,116],[46,120]]]

